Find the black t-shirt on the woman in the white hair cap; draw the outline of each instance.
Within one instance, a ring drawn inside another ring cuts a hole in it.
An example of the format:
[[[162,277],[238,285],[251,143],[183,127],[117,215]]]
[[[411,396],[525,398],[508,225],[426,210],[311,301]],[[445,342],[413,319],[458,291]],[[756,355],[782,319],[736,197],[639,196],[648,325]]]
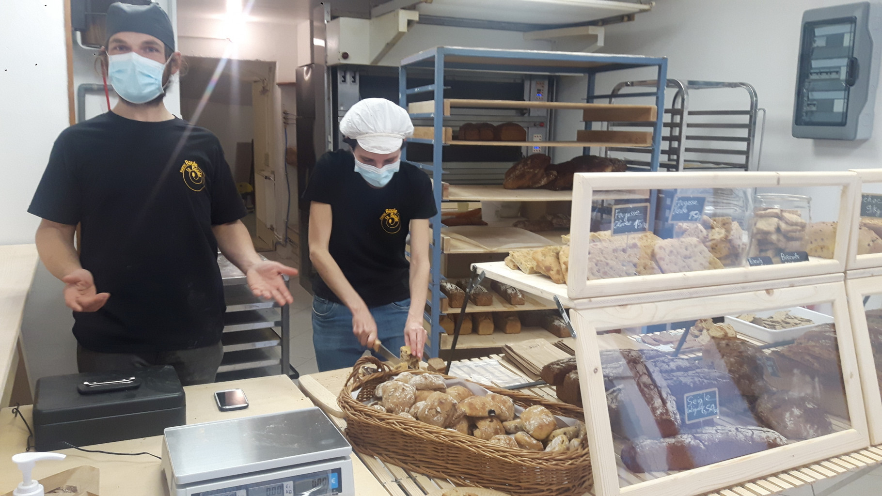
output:
[[[328,251],[368,307],[410,297],[410,264],[404,255],[410,221],[437,213],[429,176],[401,162],[385,187],[372,188],[355,172],[352,153],[327,152],[318,159],[303,199],[331,205]],[[320,277],[312,289],[340,303]]]

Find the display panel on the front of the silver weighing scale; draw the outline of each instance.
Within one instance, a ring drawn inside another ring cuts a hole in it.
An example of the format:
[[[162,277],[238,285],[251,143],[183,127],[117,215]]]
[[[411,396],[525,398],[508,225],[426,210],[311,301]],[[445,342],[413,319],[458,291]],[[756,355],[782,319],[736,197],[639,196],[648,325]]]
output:
[[[334,469],[198,492],[193,496],[333,496],[342,491],[340,469]]]

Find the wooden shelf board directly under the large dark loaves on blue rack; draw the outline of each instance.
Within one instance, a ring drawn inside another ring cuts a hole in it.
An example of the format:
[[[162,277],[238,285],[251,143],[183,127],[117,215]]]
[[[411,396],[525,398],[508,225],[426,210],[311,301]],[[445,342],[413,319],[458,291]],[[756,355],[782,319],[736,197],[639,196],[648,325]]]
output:
[[[444,199],[453,202],[569,202],[572,191],[505,189],[501,185],[445,184]],[[594,191],[594,200],[647,198],[648,189]]]

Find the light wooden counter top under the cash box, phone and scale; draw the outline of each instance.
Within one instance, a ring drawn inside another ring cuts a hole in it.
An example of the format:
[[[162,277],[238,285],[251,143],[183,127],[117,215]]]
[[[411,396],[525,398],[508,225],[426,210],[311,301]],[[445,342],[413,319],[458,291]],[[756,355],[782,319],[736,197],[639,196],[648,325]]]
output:
[[[242,388],[248,396],[249,408],[239,411],[218,411],[214,404],[214,391]],[[217,382],[184,388],[187,396],[187,424],[197,424],[226,418],[250,417],[275,411],[308,408],[312,402],[294,383],[284,375],[260,377],[243,381]],[[31,422],[31,406],[21,407],[21,412]],[[0,411],[0,494],[11,491],[19,482],[21,474],[11,463],[10,457],[25,451],[27,429],[20,418],[15,417],[11,408]],[[161,455],[162,436],[135,440],[122,440],[90,449],[137,453],[146,451]],[[34,478],[47,477],[62,470],[80,465],[92,465],[101,470],[101,496],[161,496],[168,494],[165,478],[160,469],[160,460],[152,456],[120,456],[100,453],[84,453],[74,449],[62,449],[58,453],[67,455],[63,461],[41,462],[34,468]],[[377,478],[371,475],[357,455],[352,455],[355,471],[355,486],[359,496],[389,496]],[[47,488],[49,489],[49,488]]]

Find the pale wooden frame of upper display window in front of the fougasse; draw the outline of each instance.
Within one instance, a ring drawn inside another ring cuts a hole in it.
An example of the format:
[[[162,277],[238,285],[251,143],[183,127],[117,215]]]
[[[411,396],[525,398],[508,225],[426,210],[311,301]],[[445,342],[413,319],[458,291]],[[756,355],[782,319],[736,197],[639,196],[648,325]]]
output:
[[[839,226],[833,259],[812,258],[808,262],[781,263],[758,267],[732,267],[588,280],[589,235],[591,208],[595,191],[609,189],[691,189],[691,188],[799,188],[841,187]],[[796,278],[842,272],[848,256],[850,226],[858,189],[853,172],[789,173],[789,172],[692,172],[692,173],[595,173],[575,174],[572,189],[572,223],[570,266],[565,294],[571,300],[632,292],[655,292],[713,285],[730,285],[779,278]],[[561,285],[562,287],[564,285]]]

